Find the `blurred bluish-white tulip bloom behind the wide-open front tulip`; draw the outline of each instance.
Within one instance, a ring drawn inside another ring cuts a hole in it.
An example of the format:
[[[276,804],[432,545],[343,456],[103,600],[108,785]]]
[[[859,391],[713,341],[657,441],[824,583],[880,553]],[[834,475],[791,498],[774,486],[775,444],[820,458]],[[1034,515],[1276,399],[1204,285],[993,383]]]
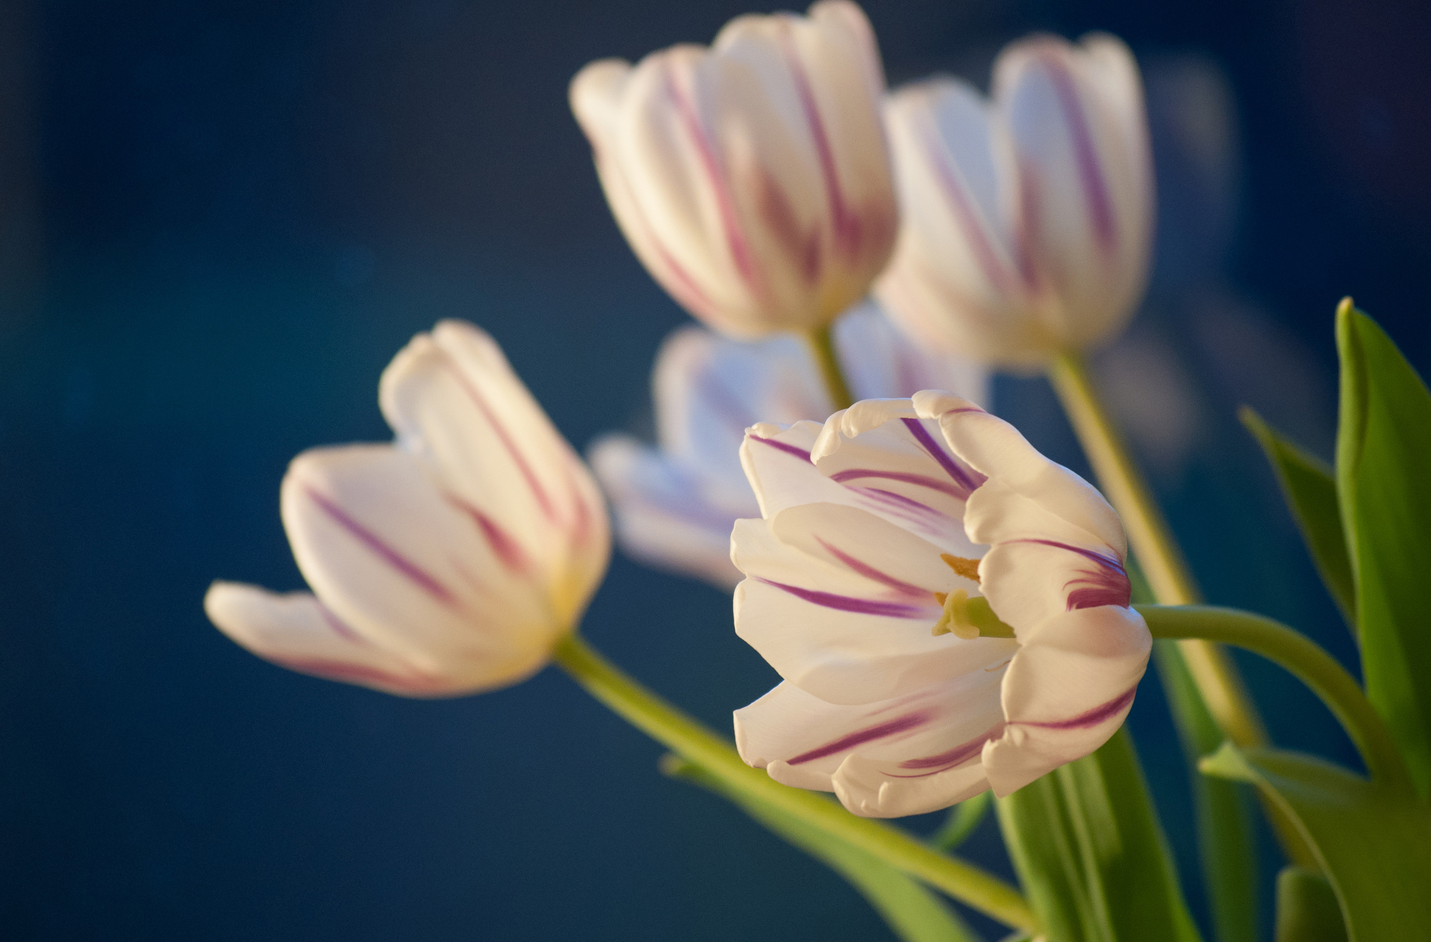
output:
[[[932,387],[983,401],[987,374],[910,344],[873,305],[840,318],[834,344],[856,395],[912,395]],[[746,428],[834,411],[809,351],[791,336],[741,344],[690,326],[671,334],[651,381],[658,447],[607,435],[591,467],[611,498],[630,555],[734,588],[730,531],[760,505],[740,467]]]

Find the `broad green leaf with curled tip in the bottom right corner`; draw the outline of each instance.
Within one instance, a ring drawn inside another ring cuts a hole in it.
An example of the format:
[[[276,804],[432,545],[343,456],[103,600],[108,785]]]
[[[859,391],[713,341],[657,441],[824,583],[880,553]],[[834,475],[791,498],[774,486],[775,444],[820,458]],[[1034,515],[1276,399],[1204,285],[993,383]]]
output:
[[[1291,815],[1337,893],[1351,942],[1404,942],[1431,926],[1425,805],[1322,759],[1274,749],[1225,743],[1202,770],[1251,782]]]

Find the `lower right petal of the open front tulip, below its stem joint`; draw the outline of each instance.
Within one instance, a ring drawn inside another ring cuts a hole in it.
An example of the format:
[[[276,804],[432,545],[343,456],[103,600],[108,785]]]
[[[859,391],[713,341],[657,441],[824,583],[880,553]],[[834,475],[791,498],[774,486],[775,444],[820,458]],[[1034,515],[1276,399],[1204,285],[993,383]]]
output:
[[[1108,742],[1133,704],[1151,651],[1142,616],[1116,606],[1069,611],[1020,637],[1003,676],[1009,726],[983,753],[995,795]]]

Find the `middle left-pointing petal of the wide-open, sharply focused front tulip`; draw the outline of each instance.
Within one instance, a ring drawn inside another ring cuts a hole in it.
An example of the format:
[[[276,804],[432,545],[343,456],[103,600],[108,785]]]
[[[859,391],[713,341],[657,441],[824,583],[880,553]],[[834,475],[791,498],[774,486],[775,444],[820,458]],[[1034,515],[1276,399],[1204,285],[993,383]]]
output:
[[[747,576],[736,588],[736,634],[830,703],[883,700],[1016,650],[1007,638],[934,636],[943,610],[933,591],[976,587],[943,565],[937,547],[860,510],[809,504],[737,521],[731,560]]]

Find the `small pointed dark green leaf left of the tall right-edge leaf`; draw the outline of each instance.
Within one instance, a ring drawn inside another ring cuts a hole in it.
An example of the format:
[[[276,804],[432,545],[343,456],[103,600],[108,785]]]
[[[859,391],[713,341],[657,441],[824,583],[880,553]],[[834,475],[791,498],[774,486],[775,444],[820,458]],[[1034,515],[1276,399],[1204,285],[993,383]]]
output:
[[[1282,497],[1292,518],[1302,531],[1302,541],[1312,554],[1312,563],[1341,608],[1347,624],[1355,624],[1357,586],[1352,581],[1351,560],[1347,557],[1347,537],[1337,502],[1337,477],[1331,465],[1294,445],[1276,434],[1262,417],[1248,407],[1238,412],[1242,424],[1262,445]]]

